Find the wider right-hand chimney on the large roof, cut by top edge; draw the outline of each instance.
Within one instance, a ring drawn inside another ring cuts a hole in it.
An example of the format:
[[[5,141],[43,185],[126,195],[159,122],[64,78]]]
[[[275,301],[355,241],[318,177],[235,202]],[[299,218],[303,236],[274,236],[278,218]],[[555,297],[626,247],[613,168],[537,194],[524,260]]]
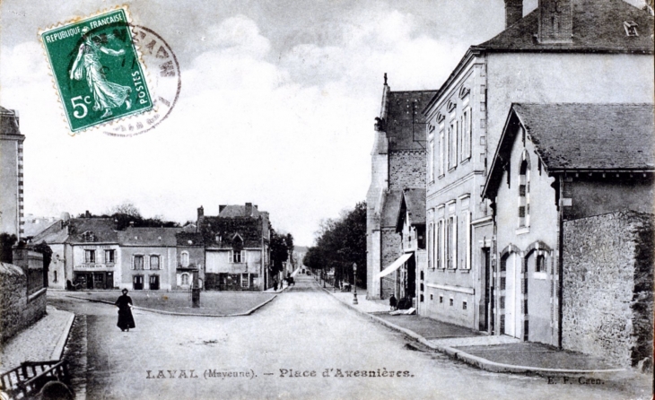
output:
[[[573,41],[573,1],[539,0],[539,43]]]

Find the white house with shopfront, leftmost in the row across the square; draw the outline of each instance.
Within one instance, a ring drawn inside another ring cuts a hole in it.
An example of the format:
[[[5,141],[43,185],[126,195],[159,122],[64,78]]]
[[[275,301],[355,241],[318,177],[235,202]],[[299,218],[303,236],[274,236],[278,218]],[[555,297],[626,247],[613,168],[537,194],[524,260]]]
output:
[[[41,231],[32,243],[52,249],[48,286],[65,289],[68,282],[83,289],[114,289],[121,283],[121,259],[116,222],[111,218],[62,219]]]

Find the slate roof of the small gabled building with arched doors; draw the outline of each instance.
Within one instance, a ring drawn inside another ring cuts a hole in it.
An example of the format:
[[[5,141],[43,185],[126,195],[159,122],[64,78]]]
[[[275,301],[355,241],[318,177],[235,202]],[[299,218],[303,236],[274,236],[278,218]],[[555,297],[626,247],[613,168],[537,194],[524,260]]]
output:
[[[497,187],[502,159],[520,123],[537,156],[553,174],[564,170],[655,171],[653,104],[512,104],[485,184]]]

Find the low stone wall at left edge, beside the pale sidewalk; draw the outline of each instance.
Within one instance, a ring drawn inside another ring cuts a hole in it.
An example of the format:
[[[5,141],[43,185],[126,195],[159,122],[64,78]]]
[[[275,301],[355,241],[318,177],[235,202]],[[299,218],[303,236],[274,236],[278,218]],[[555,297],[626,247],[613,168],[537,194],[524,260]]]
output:
[[[28,296],[27,281],[21,267],[0,263],[0,342],[46,315],[46,289]]]

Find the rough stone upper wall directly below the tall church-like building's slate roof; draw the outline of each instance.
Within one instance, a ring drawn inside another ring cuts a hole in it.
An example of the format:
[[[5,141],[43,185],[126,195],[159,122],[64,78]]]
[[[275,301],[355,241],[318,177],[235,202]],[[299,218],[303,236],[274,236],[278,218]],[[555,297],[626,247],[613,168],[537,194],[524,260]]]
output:
[[[425,188],[427,152],[406,150],[389,153],[389,189]]]

